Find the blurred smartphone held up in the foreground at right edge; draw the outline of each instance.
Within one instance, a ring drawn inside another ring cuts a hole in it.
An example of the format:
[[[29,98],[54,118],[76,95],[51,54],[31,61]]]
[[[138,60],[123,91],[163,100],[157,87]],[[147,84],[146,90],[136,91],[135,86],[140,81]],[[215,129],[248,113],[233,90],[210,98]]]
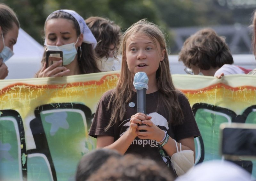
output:
[[[256,158],[256,124],[220,124],[220,154],[230,160]]]

